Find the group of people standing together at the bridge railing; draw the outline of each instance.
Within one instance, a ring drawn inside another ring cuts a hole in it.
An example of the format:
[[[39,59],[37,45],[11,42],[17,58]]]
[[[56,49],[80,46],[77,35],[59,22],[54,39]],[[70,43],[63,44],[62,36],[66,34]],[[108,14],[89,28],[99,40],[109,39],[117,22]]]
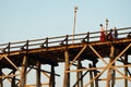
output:
[[[114,29],[111,28],[108,33],[103,26],[103,24],[100,24],[99,26],[100,26],[100,41],[118,39],[118,32],[116,27],[114,27]]]

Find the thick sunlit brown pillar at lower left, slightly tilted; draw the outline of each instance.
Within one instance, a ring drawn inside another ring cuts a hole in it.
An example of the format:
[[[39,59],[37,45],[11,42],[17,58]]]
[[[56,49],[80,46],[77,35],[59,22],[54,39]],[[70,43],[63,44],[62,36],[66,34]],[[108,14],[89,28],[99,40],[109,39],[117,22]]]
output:
[[[22,72],[21,72],[21,80],[20,80],[20,87],[25,87],[26,85],[26,55],[23,58],[23,63],[22,63]]]

